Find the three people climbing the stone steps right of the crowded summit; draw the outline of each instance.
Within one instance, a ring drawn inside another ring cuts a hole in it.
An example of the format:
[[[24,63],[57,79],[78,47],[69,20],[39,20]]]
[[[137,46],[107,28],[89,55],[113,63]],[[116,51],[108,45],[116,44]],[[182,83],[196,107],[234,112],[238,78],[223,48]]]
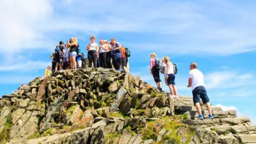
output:
[[[159,73],[162,73],[165,77],[165,84],[169,86],[170,89],[169,98],[179,99],[177,87],[175,86],[175,70],[177,69],[175,69],[175,65],[170,61],[169,57],[166,56],[162,61],[160,60],[159,58],[156,58],[155,53],[150,54],[150,74],[154,77],[157,89],[162,91],[162,81],[159,76]],[[209,118],[213,119],[210,100],[204,86],[204,75],[197,69],[197,63],[190,63],[187,87],[191,87],[193,102],[196,106],[197,113],[199,114],[198,119],[204,119],[204,116],[202,115],[202,108],[200,106],[200,99],[202,99],[203,104],[209,112]]]

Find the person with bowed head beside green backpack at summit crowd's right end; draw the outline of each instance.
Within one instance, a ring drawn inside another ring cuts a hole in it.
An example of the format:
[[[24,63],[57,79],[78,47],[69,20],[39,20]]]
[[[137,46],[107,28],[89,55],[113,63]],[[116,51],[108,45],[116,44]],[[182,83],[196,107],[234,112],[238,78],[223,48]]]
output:
[[[121,66],[121,47],[122,45],[119,44],[118,42],[116,42],[116,39],[115,38],[111,38],[110,39],[111,43],[113,44],[113,47],[112,47],[112,51],[113,51],[113,61],[115,61],[115,69],[116,70],[120,70],[120,66]]]

